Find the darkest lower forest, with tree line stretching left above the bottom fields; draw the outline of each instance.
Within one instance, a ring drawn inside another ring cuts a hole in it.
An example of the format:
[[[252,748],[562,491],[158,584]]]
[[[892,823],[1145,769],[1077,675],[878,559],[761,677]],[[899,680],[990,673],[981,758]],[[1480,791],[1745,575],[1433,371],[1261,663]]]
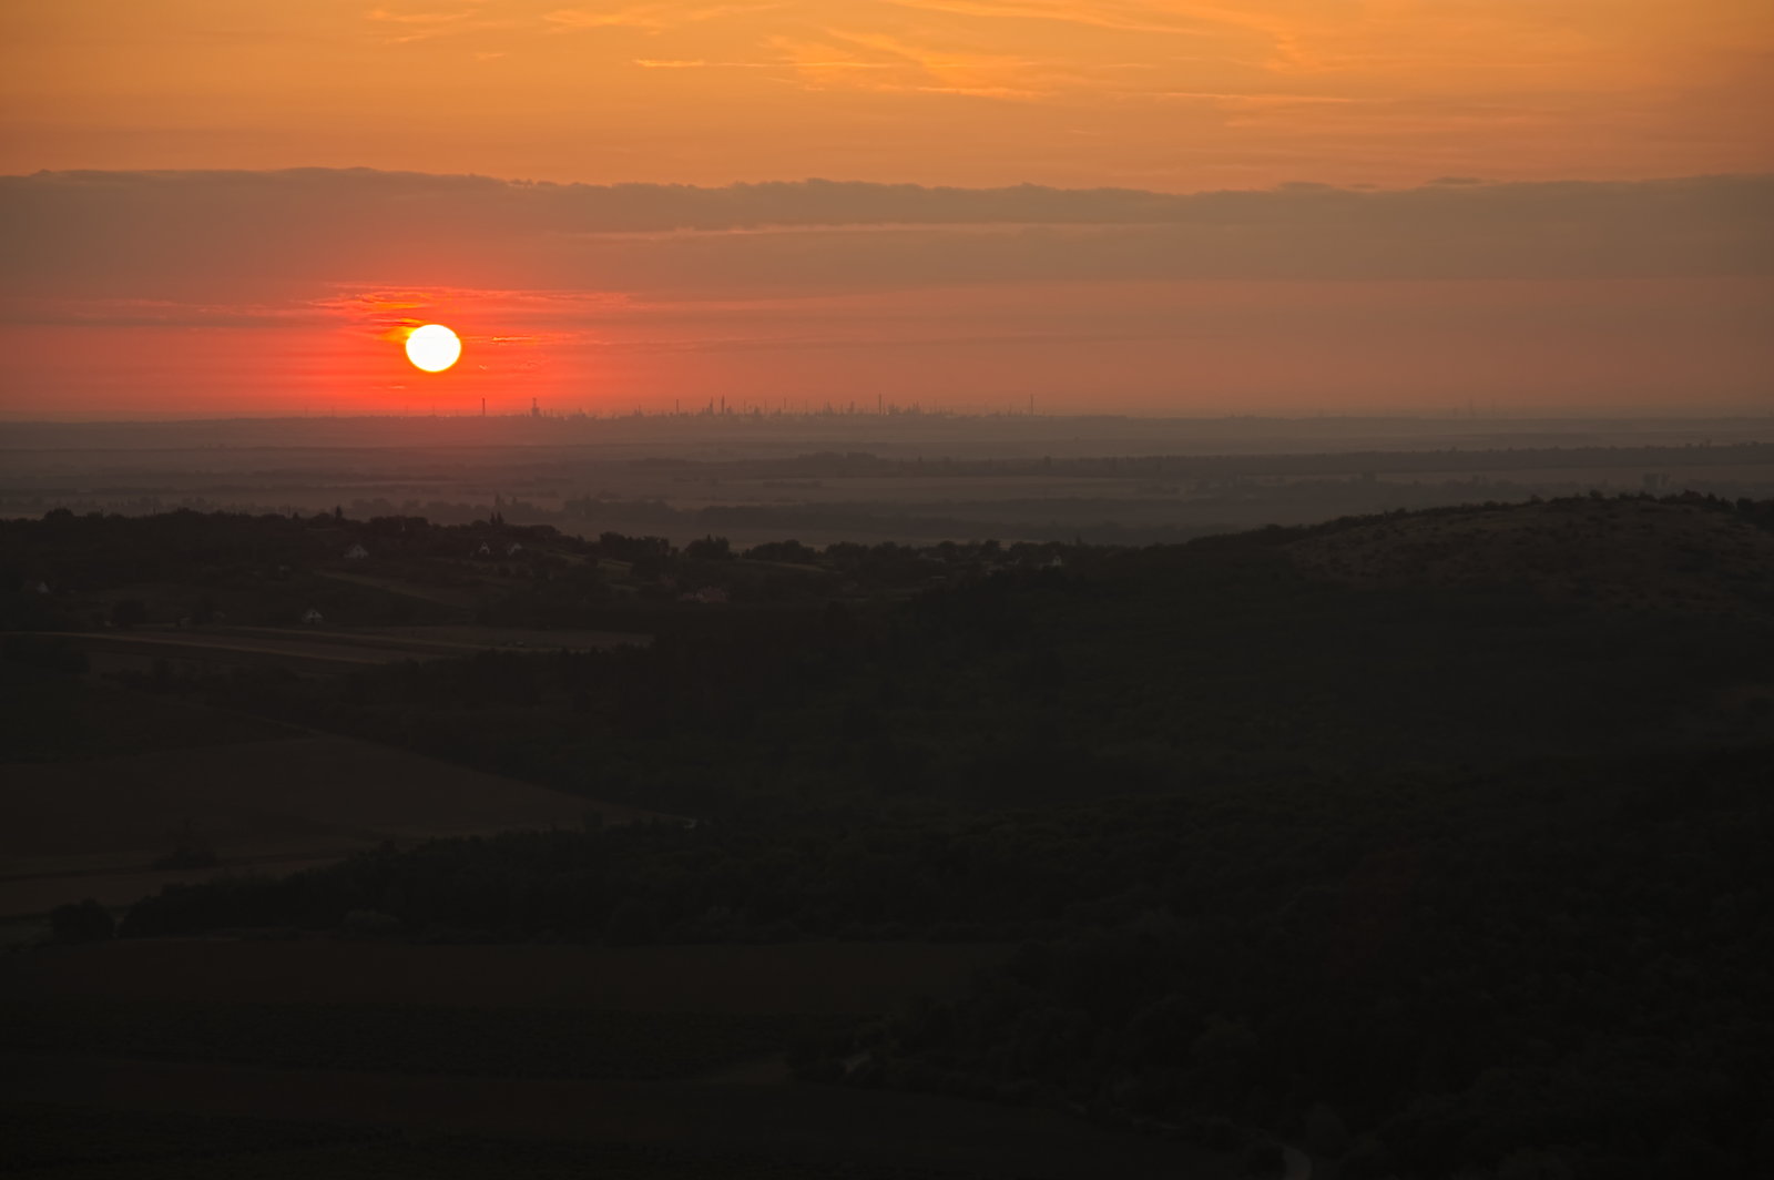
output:
[[[963,997],[836,1036],[804,1074],[1146,1125],[1212,1113],[1309,1137],[1350,1176],[1524,1150],[1554,1175],[1746,1175],[1774,1146],[1767,754],[593,822],[174,889],[122,933],[383,916],[426,939],[1011,940]]]

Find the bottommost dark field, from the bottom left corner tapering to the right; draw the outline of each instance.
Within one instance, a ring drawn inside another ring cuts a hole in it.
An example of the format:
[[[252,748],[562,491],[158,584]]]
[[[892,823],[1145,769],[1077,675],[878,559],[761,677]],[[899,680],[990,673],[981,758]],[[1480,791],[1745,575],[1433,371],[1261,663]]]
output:
[[[1050,1111],[834,1086],[514,1081],[20,1056],[0,1059],[0,1116],[43,1125],[25,1146],[5,1148],[32,1150],[11,1175],[57,1180],[1238,1175],[1231,1153],[1114,1132]],[[55,1134],[57,1123],[66,1129],[69,1121],[101,1132],[115,1121],[117,1132],[106,1136],[114,1150],[145,1155],[144,1146],[158,1146],[163,1169],[137,1169],[126,1164],[128,1155],[117,1160],[126,1166],[115,1168],[106,1168],[103,1155],[92,1160],[92,1130]],[[184,1123],[209,1127],[181,1152],[167,1129]],[[234,1132],[234,1152],[204,1148],[227,1145],[216,1127]]]

